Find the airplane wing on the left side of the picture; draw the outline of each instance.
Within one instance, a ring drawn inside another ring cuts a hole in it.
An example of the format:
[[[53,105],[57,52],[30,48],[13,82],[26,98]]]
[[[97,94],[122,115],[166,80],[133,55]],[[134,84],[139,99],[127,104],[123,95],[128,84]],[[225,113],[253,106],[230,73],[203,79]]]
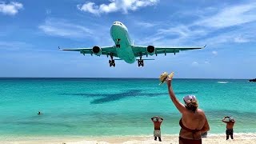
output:
[[[118,54],[117,54],[117,51],[116,51],[116,48],[115,46],[102,46],[102,47],[99,47],[99,46],[94,46],[94,47],[97,47],[99,48],[98,49],[98,53],[96,53],[96,55],[98,54],[99,55],[106,55],[106,56],[109,56],[110,54],[112,54],[114,57],[118,57]],[[68,51],[79,51],[80,54],[95,54],[94,53],[94,47],[93,48],[60,48],[58,47],[59,50],[68,50]],[[97,50],[96,50],[97,51]]]

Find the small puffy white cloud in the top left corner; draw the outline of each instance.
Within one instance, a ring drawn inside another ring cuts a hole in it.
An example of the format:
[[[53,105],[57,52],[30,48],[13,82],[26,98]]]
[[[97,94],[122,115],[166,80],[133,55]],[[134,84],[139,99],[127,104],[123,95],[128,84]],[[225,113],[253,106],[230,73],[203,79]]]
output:
[[[18,10],[23,8],[22,3],[20,2],[10,2],[6,4],[6,2],[0,2],[0,12],[3,14],[15,15],[18,13]]]

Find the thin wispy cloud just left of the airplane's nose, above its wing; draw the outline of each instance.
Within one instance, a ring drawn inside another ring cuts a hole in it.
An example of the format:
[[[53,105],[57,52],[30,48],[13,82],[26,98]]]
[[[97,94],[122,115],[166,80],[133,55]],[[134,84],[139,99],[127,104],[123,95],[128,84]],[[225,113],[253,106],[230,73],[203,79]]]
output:
[[[86,41],[95,45],[114,44],[110,38],[110,26],[98,25],[95,22],[86,22],[86,26],[83,26],[83,23],[78,24],[78,22],[74,23],[66,19],[46,18],[38,29],[50,36],[70,38],[76,41],[84,41],[86,38]]]

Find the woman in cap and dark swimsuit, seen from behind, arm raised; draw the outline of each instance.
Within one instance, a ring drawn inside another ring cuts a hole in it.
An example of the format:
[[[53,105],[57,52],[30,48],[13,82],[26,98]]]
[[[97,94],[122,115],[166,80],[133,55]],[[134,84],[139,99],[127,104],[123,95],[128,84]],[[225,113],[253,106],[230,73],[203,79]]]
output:
[[[206,115],[198,109],[198,101],[194,95],[183,98],[185,105],[178,101],[171,86],[172,77],[166,79],[170,99],[174,102],[182,118],[179,121],[179,144],[202,144],[202,135],[210,130]]]

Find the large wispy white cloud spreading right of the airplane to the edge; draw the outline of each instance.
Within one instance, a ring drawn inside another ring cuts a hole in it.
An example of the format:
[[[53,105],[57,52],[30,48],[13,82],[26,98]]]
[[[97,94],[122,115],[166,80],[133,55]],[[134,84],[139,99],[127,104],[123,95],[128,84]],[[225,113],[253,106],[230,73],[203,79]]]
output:
[[[142,44],[154,42],[156,45],[208,45],[217,46],[227,42],[256,41],[256,3],[229,6],[223,9],[203,9],[197,12],[198,20],[189,24],[170,24],[142,39]],[[201,15],[200,15],[201,14]],[[207,14],[208,17],[203,16]],[[191,14],[190,14],[191,17]],[[166,23],[166,22],[163,22]],[[226,30],[231,26],[236,29]],[[221,31],[220,31],[221,30]]]

